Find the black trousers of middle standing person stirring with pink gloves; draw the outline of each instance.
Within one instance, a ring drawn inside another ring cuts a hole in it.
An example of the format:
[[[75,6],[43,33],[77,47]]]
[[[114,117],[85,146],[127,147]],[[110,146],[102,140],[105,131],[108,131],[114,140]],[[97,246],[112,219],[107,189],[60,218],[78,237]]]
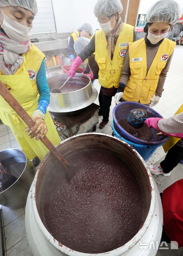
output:
[[[106,121],[109,121],[109,112],[110,112],[112,96],[104,95],[102,90],[100,89],[100,93],[98,95],[98,101],[99,101],[100,109],[102,111],[103,119],[105,119]]]

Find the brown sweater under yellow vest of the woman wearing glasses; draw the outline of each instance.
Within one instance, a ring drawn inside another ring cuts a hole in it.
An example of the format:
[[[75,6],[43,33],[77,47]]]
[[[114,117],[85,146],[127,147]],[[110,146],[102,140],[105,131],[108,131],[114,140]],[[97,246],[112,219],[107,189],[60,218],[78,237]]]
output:
[[[158,48],[159,48],[159,46],[152,48],[152,47],[149,47],[149,46],[146,45],[147,73],[149,71],[149,68],[152,64],[152,61],[153,61],[154,57],[156,56]],[[163,86],[164,86],[164,83],[165,83],[165,79],[166,79],[166,76],[167,76],[168,69],[170,67],[172,56],[173,56],[173,53],[168,58],[165,68],[161,71],[161,74],[159,76],[158,86],[156,88],[156,96],[159,96],[159,97],[162,96],[162,92],[164,91]],[[147,73],[146,73],[146,75],[147,75]],[[131,74],[131,72],[130,72],[130,58],[129,58],[129,52],[127,52],[126,57],[125,57],[125,61],[124,61],[124,66],[121,70],[120,83],[124,83],[126,85],[128,80],[129,80],[130,74]]]

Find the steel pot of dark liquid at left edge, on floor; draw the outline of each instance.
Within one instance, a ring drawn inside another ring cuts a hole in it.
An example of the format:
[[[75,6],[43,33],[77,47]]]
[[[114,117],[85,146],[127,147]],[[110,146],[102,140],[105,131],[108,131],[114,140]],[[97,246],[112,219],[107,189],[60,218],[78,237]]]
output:
[[[8,173],[18,178],[13,185],[0,193],[0,204],[10,209],[24,207],[37,169],[27,160],[23,151],[16,148],[1,151],[0,162]]]

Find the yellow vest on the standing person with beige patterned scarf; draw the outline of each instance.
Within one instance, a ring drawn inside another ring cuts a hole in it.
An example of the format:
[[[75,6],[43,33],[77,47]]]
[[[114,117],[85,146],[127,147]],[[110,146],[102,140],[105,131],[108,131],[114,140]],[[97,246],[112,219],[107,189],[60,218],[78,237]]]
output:
[[[101,29],[95,33],[95,61],[99,67],[98,80],[101,86],[118,88],[129,42],[133,42],[133,31],[133,26],[124,23],[123,30],[116,43],[112,61],[108,59],[105,33]]]

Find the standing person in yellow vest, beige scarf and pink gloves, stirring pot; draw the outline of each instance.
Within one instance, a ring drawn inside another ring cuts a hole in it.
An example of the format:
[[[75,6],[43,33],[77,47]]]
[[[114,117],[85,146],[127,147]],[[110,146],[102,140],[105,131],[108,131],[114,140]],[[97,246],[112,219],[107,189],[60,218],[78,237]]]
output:
[[[136,40],[134,27],[124,24],[119,16],[122,10],[120,0],[97,1],[94,14],[98,18],[101,30],[95,33],[69,71],[69,75],[73,77],[76,67],[95,52],[95,60],[99,67],[98,79],[101,85],[98,114],[103,115],[100,129],[103,129],[109,121],[111,100],[119,86],[128,44]]]

